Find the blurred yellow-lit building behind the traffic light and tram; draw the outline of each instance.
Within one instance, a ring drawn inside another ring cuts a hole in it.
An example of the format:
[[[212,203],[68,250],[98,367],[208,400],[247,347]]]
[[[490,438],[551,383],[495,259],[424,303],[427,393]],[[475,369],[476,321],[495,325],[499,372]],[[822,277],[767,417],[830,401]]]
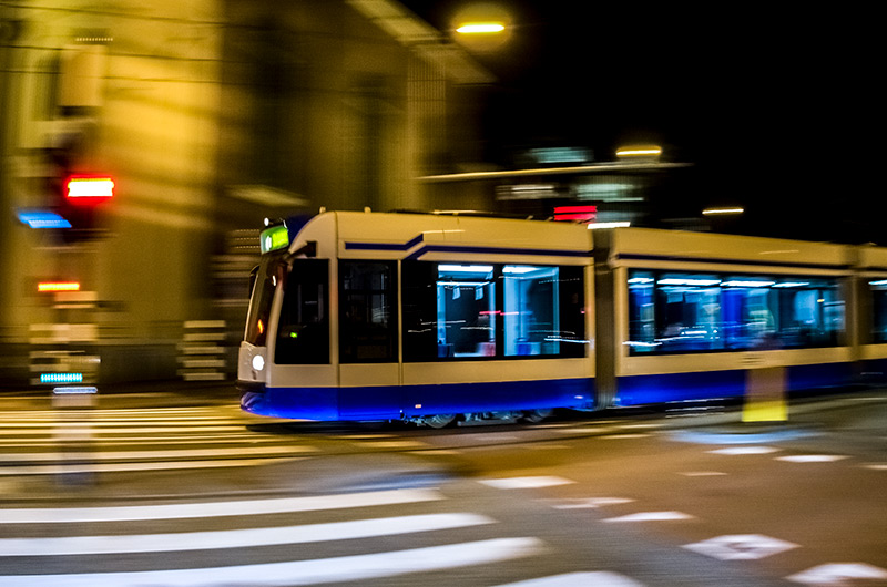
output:
[[[266,217],[584,204],[708,228],[667,154],[524,144],[485,163],[496,76],[392,0],[0,8],[4,385],[39,384],[41,362],[99,383],[226,377]],[[72,175],[113,196],[71,206]]]

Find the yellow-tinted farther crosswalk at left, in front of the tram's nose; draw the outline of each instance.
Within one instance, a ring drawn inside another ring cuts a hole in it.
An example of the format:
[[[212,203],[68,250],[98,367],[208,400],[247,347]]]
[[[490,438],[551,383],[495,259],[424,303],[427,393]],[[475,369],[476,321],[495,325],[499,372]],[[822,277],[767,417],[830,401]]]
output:
[[[0,477],[256,466],[317,452],[236,406],[0,411]]]

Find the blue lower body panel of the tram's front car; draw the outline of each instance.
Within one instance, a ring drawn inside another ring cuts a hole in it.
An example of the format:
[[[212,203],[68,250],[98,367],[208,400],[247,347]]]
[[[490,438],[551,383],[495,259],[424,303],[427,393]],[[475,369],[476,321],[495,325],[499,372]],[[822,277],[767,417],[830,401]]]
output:
[[[360,388],[266,388],[247,391],[241,406],[251,413],[305,420],[399,420],[416,415],[590,409],[594,381],[560,379],[439,385]]]

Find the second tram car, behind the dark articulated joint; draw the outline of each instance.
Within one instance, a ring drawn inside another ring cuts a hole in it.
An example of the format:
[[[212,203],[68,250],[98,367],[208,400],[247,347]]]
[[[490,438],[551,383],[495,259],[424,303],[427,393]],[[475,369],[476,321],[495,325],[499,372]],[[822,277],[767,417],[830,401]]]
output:
[[[766,367],[789,392],[853,380],[852,247],[643,228],[595,233],[595,247],[611,403],[742,397]]]

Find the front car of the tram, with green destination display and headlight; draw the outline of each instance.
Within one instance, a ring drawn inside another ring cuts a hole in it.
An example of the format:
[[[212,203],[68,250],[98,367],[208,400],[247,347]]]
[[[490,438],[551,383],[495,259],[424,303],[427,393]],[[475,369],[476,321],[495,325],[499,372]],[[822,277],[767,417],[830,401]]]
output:
[[[594,405],[585,226],[330,212],[266,229],[262,250],[248,412],[437,426]]]

